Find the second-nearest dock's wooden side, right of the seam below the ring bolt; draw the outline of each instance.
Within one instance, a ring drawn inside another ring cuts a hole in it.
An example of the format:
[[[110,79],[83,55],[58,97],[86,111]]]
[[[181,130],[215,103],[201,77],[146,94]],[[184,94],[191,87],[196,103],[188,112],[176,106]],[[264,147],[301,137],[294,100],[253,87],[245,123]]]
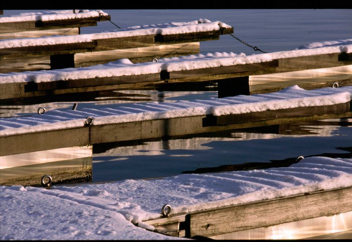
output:
[[[347,105],[341,105],[342,109]],[[304,108],[303,108],[304,109]],[[309,110],[309,108],[307,108]],[[285,124],[301,122],[306,120],[319,120],[323,118],[337,118],[350,116],[352,112],[349,108],[341,112],[329,112],[322,114],[311,114],[301,117],[278,117],[275,119],[266,119],[266,112],[262,112],[261,120],[246,119],[241,123],[216,125],[215,121],[207,115],[176,117],[169,119],[145,120],[141,122],[128,122],[121,124],[109,124],[91,126],[91,143],[109,143],[135,140],[148,140],[155,138],[182,137],[187,135],[219,132],[225,130],[244,129],[250,127],[269,126],[275,124]],[[213,116],[212,116],[213,117]],[[182,129],[180,129],[182,127]]]

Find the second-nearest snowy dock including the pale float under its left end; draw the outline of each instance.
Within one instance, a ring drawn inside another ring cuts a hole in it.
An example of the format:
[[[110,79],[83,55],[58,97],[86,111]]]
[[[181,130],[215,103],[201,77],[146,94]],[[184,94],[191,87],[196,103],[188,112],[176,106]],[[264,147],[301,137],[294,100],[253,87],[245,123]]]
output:
[[[225,102],[222,103],[212,99],[132,103],[122,107],[110,105],[99,110],[76,107],[72,110],[45,111],[44,108],[39,108],[38,114],[32,116],[0,120],[0,184],[40,185],[39,178],[48,172],[55,184],[92,180],[92,156],[86,152],[69,159],[59,155],[55,157],[55,162],[48,159],[47,155],[44,155],[43,161],[38,160],[38,154],[58,154],[58,150],[74,148],[79,151],[90,147],[92,153],[92,147],[97,144],[173,139],[201,133],[351,117],[351,93],[349,86],[330,88],[330,94],[324,91],[322,96],[313,94],[285,100],[282,100],[280,93],[278,100],[274,98],[275,93],[269,93],[270,98],[266,98],[266,94],[261,94],[260,97],[252,95],[252,101],[248,103],[238,103],[235,96],[223,99]],[[336,95],[338,102],[335,103]],[[301,105],[307,98],[319,98],[320,101],[330,104]],[[260,100],[259,104],[255,100]],[[273,100],[276,100],[276,107],[268,109],[267,105]],[[296,106],[285,107],[287,101],[296,103]],[[228,113],[232,109],[236,110],[236,105],[246,105],[249,109],[258,106],[254,108],[256,111],[253,109],[244,113]],[[32,163],[21,165],[16,162],[15,167],[8,166],[16,160],[28,160]],[[58,167],[61,167],[60,172]]]

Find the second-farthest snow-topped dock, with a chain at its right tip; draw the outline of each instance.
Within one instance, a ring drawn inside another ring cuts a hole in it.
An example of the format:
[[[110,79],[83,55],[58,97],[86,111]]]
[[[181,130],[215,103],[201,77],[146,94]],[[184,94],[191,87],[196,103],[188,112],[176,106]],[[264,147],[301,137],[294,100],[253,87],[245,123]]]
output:
[[[99,16],[102,19],[106,18],[101,13]],[[11,26],[13,23],[7,24]],[[231,33],[233,28],[222,22],[198,20],[96,34],[4,39],[0,41],[0,60],[3,73],[21,71],[21,68],[18,68],[19,64],[24,65],[28,61],[35,63],[36,60],[33,61],[33,58],[41,58],[37,62],[49,60],[49,69],[81,67],[91,65],[91,62],[101,64],[111,61],[112,58],[114,60],[121,58],[121,55],[124,58],[132,57],[135,61],[147,57],[152,60],[160,56],[198,53],[200,41],[217,40],[220,35]],[[92,59],[94,56],[91,53],[97,52],[108,57],[102,59],[98,56]],[[80,54],[78,59],[75,58],[75,54]],[[111,57],[115,54],[117,54],[115,57]],[[23,67],[23,70],[25,69]]]

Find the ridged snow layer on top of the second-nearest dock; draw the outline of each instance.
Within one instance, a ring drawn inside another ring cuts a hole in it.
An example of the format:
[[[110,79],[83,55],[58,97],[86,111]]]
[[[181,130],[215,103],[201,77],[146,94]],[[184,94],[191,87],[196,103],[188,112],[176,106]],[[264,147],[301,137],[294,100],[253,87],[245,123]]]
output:
[[[234,97],[178,100],[175,102],[115,104],[99,108],[54,109],[31,116],[3,118],[0,136],[67,128],[80,128],[87,117],[93,125],[107,125],[142,120],[187,117],[211,114],[214,116],[247,112],[278,110],[294,107],[324,106],[351,100],[352,86],[305,90],[297,85],[267,94],[237,95]],[[44,107],[45,108],[45,107]]]

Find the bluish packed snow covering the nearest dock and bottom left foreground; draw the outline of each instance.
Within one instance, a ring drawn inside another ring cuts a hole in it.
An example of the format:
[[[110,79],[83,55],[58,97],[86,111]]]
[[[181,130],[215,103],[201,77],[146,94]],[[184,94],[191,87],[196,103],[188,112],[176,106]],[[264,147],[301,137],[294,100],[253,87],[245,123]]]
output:
[[[153,227],[143,221],[160,217],[164,204],[175,214],[351,185],[352,159],[307,157],[266,170],[51,189],[1,186],[0,239],[184,239],[146,230]]]

